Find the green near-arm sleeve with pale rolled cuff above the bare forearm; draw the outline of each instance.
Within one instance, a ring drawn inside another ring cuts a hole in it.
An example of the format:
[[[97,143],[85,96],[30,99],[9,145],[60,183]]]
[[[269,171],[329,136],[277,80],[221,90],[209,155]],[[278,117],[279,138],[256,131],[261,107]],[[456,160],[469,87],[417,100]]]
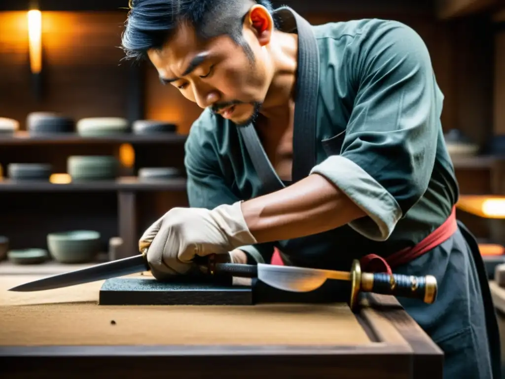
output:
[[[433,170],[441,102],[425,43],[410,27],[384,22],[350,46],[357,88],[340,155],[313,168],[366,217],[349,223],[387,240],[426,192]]]

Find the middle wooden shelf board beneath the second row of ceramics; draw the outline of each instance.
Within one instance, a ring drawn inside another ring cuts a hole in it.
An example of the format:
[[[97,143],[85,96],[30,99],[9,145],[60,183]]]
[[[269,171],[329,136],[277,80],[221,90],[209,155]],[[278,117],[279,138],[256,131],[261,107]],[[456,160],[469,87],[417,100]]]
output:
[[[145,181],[135,176],[117,180],[73,182],[56,184],[49,181],[0,180],[0,192],[79,192],[79,191],[186,191],[186,179]]]

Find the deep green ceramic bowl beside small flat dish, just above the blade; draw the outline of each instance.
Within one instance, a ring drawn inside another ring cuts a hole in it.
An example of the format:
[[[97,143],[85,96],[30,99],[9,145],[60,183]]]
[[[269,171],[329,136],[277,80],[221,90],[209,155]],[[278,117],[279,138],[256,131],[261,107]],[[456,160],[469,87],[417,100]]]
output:
[[[100,251],[100,233],[94,230],[72,230],[47,234],[47,248],[60,263],[92,261]]]

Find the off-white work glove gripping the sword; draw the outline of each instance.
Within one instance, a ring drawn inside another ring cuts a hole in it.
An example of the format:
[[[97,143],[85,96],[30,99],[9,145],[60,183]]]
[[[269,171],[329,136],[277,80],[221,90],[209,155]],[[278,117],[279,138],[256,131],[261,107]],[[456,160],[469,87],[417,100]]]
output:
[[[245,223],[240,202],[204,208],[173,208],[149,226],[139,241],[153,276],[184,274],[194,268],[195,256],[229,254],[256,244]]]

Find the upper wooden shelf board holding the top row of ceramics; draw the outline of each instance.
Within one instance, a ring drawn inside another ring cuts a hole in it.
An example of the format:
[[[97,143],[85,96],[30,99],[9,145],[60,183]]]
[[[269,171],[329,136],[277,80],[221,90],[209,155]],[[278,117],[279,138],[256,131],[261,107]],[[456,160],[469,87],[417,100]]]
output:
[[[133,134],[124,133],[100,137],[84,137],[77,133],[55,133],[45,135],[30,135],[25,131],[18,131],[14,135],[0,135],[0,146],[6,145],[34,145],[34,144],[181,144],[187,138],[185,134]]]

